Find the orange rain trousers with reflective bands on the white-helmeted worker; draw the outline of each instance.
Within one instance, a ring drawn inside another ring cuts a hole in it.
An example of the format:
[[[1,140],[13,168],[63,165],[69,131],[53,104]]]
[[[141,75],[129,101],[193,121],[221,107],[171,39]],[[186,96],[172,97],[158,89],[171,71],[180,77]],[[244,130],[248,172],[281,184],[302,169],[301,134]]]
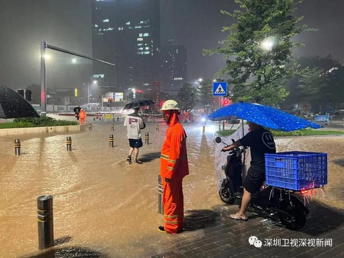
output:
[[[172,179],[166,183],[163,178],[164,228],[166,232],[175,234],[184,227],[183,179]]]

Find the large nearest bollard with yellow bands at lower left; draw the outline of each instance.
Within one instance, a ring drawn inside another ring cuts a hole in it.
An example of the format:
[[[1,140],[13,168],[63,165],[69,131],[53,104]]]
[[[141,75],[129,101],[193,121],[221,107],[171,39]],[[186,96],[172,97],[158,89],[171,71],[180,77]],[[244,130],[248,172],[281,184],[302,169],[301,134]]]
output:
[[[40,250],[54,245],[53,196],[37,197],[38,246]]]

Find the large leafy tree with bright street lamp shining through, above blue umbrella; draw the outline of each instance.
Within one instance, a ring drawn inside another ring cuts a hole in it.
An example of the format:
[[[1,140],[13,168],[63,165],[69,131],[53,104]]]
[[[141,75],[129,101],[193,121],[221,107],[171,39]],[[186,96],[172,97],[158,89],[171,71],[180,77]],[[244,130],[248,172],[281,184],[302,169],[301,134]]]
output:
[[[216,50],[203,54],[222,54],[226,66],[219,75],[227,74],[234,101],[277,104],[287,97],[284,88],[296,72],[291,50],[301,44],[290,39],[304,28],[296,24],[302,19],[292,16],[296,0],[235,0],[241,7],[233,13],[221,11],[236,20],[229,36]],[[299,2],[299,1],[298,1]]]

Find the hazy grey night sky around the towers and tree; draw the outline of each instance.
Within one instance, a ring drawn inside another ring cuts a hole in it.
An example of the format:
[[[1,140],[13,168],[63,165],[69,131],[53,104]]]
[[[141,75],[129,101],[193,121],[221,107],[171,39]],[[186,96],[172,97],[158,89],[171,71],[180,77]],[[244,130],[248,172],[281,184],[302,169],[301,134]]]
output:
[[[68,48],[86,55],[92,53],[90,0],[0,0],[0,84],[13,89],[40,84],[39,42]],[[222,26],[233,20],[220,13],[232,11],[233,0],[161,0],[161,44],[174,44],[188,50],[188,81],[210,78],[223,65],[221,56],[204,57],[202,49],[218,46],[226,37]],[[304,0],[296,15],[318,31],[303,32],[297,40],[306,47],[295,57],[326,56],[344,61],[344,0]],[[90,61],[48,50],[53,58],[47,64],[47,86],[82,86],[91,75]],[[54,64],[54,65],[53,65]]]

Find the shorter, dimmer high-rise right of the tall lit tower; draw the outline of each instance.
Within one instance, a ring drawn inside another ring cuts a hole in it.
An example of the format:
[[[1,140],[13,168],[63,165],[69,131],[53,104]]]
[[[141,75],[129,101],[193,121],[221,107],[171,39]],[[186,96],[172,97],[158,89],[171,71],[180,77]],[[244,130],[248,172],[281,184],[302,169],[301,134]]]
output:
[[[176,91],[186,83],[187,50],[181,45],[161,46],[161,88]]]

